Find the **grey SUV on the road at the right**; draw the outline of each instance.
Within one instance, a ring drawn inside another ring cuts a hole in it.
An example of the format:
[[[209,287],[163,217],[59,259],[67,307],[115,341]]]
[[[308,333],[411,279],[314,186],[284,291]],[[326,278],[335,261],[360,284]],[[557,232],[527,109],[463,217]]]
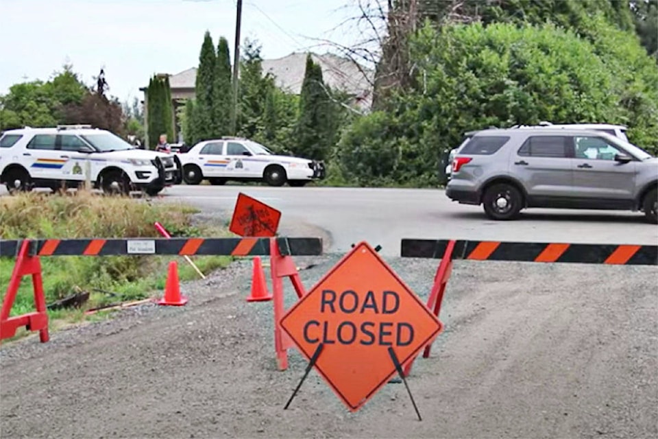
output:
[[[476,132],[452,161],[446,195],[491,219],[522,209],[644,211],[657,219],[658,158],[606,132],[508,128]]]

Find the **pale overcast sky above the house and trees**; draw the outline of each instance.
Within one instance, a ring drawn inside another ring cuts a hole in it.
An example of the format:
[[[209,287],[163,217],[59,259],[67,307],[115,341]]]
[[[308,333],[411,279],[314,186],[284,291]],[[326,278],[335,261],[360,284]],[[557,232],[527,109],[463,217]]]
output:
[[[350,21],[358,11],[356,0],[243,0],[241,42],[258,40],[266,59],[324,53],[332,47],[317,39],[363,40]],[[215,46],[225,36],[233,56],[236,1],[0,0],[0,16],[0,95],[68,63],[87,84],[103,68],[108,93],[132,102],[154,73],[197,67],[206,30]]]

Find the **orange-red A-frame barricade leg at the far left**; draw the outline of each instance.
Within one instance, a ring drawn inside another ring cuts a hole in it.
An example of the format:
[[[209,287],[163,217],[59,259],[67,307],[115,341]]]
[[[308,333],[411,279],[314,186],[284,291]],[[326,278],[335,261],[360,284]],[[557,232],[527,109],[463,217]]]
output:
[[[48,314],[46,312],[46,298],[43,293],[43,280],[41,276],[41,262],[38,256],[29,254],[30,242],[23,241],[21,249],[16,257],[14,271],[5,293],[5,298],[0,309],[0,340],[14,337],[16,329],[26,327],[28,331],[39,331],[42,343],[49,340]],[[32,275],[32,287],[34,289],[35,312],[23,314],[22,316],[10,317],[16,294],[19,292],[23,276]]]

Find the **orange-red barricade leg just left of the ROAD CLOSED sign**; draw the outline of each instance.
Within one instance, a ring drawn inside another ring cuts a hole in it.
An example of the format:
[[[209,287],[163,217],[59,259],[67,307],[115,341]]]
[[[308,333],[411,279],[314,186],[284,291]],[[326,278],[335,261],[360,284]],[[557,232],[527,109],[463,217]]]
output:
[[[272,277],[272,295],[274,301],[274,348],[279,370],[288,368],[288,349],[295,346],[290,337],[281,329],[281,319],[285,314],[283,296],[283,278],[289,277],[297,298],[306,294],[295,261],[290,256],[282,256],[276,238],[269,241],[269,270]]]

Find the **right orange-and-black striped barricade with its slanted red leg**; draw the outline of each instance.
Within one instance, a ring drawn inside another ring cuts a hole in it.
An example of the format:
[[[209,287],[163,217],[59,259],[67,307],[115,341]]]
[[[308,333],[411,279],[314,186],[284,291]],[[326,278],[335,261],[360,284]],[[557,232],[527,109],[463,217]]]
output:
[[[592,263],[605,265],[658,265],[658,246],[639,244],[568,244],[545,242],[468,241],[455,239],[402,239],[400,256],[441,259],[427,306],[437,318],[454,259],[470,261],[525,261]],[[433,340],[432,340],[433,342]],[[430,356],[432,342],[423,357]],[[413,359],[405,365],[409,375]]]

